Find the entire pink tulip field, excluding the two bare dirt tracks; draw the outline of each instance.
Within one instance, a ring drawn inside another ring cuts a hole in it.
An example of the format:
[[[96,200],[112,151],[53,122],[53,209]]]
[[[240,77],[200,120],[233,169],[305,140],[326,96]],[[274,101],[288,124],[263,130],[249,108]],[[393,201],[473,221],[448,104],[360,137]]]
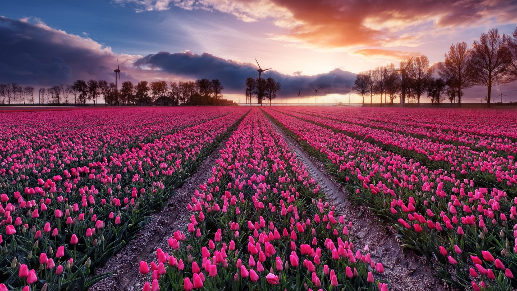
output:
[[[0,117],[0,291],[86,290],[116,275],[98,268],[219,144],[184,227],[140,262],[143,291],[398,289],[357,241],[360,218],[334,205],[286,139],[447,288],[517,288],[515,111],[179,106]]]

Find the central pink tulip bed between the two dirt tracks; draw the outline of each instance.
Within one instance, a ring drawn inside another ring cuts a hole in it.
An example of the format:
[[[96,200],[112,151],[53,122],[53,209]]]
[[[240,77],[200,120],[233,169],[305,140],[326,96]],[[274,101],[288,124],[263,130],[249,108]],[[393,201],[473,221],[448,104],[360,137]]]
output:
[[[141,262],[157,290],[387,290],[381,263],[350,240],[353,222],[260,109],[240,123],[193,193],[185,232]],[[379,281],[381,280],[381,281]]]

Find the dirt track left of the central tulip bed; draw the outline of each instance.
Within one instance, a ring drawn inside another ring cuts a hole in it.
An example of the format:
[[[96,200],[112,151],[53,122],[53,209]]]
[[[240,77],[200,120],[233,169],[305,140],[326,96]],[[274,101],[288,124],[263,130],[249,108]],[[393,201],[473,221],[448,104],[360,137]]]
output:
[[[169,249],[167,239],[178,229],[183,231],[188,224],[187,204],[194,190],[212,176],[212,166],[221,156],[219,150],[225,147],[231,133],[223,139],[219,146],[196,169],[196,172],[183,186],[176,189],[167,205],[160,211],[154,212],[153,219],[143,228],[136,237],[123,249],[114,255],[110,261],[98,269],[98,273],[116,272],[117,275],[99,281],[90,290],[116,290],[116,291],[140,291],[146,281],[150,280],[150,274],[143,276],[139,272],[140,261],[154,261],[156,249]]]

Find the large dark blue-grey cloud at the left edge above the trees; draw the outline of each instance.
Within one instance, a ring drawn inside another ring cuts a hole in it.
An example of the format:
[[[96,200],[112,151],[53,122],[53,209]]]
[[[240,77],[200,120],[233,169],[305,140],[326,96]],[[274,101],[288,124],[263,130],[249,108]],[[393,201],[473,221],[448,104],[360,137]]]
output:
[[[52,86],[76,79],[113,79],[117,57],[121,79],[127,64],[140,56],[116,55],[110,48],[78,35],[51,28],[39,19],[12,20],[0,16],[0,80],[22,85]]]

